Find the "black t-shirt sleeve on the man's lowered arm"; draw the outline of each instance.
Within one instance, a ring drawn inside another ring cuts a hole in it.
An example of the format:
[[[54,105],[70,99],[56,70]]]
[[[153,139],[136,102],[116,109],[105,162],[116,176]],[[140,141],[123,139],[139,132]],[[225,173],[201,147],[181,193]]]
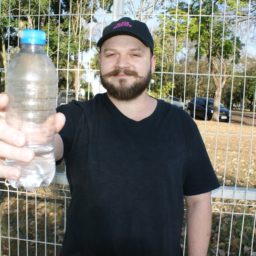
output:
[[[184,164],[183,184],[184,195],[187,196],[206,193],[219,187],[200,132],[194,121],[189,119],[190,124],[186,134],[188,151]]]

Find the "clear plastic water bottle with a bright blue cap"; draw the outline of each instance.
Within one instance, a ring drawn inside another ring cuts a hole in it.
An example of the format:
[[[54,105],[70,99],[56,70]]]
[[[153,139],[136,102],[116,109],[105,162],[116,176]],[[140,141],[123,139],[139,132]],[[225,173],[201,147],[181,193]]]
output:
[[[24,132],[26,145],[35,152],[30,163],[8,159],[6,165],[20,168],[15,188],[33,191],[48,186],[55,174],[54,118],[58,91],[56,69],[44,51],[46,36],[40,30],[23,30],[21,49],[7,69],[6,92],[10,102],[7,123]]]

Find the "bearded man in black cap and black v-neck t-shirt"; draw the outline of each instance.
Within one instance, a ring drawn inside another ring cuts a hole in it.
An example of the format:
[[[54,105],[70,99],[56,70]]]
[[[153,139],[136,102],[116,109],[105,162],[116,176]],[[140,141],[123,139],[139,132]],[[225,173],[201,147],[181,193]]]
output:
[[[189,255],[206,256],[218,182],[193,120],[146,93],[155,68],[147,26],[122,18],[97,45],[107,93],[56,114],[56,159],[72,193],[61,255],[182,255],[185,196]],[[30,161],[24,134],[0,127],[2,158]],[[15,176],[6,168],[2,176]]]

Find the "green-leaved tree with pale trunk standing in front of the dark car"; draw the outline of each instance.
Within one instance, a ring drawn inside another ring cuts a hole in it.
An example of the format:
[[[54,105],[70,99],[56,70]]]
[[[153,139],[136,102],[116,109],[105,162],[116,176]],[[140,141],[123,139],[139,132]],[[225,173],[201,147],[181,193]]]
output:
[[[219,105],[227,73],[239,62],[243,47],[228,14],[244,12],[246,4],[247,1],[240,1],[238,6],[234,0],[193,0],[179,2],[169,8],[169,13],[178,24],[175,27],[176,38],[186,27],[187,41],[192,42],[195,60],[207,60],[207,69],[215,85],[213,120],[219,120]]]

